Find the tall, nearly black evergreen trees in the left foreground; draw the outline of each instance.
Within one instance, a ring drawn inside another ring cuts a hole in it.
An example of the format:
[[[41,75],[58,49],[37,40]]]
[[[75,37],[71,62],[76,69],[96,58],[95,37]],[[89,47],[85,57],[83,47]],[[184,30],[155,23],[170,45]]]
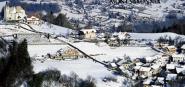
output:
[[[26,40],[20,44],[13,42],[10,57],[6,61],[7,64],[0,73],[0,87],[17,87],[31,78],[33,72]]]

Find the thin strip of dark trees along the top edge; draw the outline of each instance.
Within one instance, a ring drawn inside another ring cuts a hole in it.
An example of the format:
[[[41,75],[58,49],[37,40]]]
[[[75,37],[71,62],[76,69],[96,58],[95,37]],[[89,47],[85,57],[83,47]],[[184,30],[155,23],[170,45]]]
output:
[[[110,0],[111,3],[160,3],[160,0]]]

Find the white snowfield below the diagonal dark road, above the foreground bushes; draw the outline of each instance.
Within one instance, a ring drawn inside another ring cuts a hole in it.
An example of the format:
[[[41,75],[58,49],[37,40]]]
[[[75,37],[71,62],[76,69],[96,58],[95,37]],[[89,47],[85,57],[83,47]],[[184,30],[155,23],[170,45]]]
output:
[[[44,63],[36,61],[33,63],[35,73],[46,69],[58,69],[62,74],[70,75],[75,72],[80,78],[85,79],[92,76],[96,80],[97,87],[120,87],[125,79],[121,76],[115,76],[103,65],[95,63],[90,59],[78,59],[72,61],[46,60]],[[114,77],[118,82],[103,82],[104,77]]]

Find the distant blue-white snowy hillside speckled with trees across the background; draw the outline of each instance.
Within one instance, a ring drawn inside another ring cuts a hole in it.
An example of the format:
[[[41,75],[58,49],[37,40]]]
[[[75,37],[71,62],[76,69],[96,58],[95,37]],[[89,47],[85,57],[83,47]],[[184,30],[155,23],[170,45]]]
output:
[[[91,23],[94,28],[111,29],[126,21],[130,31],[152,32],[170,26],[184,18],[184,0],[160,0],[160,3],[120,3],[113,4],[109,0],[23,0],[28,4],[54,3],[59,13],[66,14],[73,24],[84,27]],[[5,2],[1,2],[1,7]],[[46,5],[48,7],[50,5]],[[29,9],[30,11],[31,9]],[[42,9],[40,9],[42,10]],[[43,12],[45,9],[43,9]],[[57,13],[58,14],[58,13]]]

